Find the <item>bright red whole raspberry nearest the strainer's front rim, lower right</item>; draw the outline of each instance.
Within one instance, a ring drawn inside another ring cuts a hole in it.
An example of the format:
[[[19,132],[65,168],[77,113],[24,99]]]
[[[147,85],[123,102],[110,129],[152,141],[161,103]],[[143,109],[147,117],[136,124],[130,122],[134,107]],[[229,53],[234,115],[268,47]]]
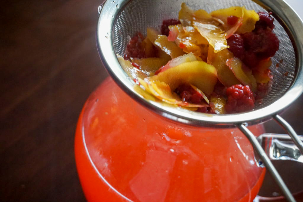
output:
[[[255,107],[254,94],[248,85],[233,85],[226,89],[228,96],[225,110],[227,113],[239,113],[252,110]]]

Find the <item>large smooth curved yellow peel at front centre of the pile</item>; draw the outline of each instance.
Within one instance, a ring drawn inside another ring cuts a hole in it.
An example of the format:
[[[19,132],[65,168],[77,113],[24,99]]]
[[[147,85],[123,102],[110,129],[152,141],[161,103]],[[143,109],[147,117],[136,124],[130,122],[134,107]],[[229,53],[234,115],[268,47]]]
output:
[[[203,61],[185,62],[176,67],[149,77],[153,81],[163,81],[174,91],[180,84],[188,83],[211,94],[217,82],[217,71]]]

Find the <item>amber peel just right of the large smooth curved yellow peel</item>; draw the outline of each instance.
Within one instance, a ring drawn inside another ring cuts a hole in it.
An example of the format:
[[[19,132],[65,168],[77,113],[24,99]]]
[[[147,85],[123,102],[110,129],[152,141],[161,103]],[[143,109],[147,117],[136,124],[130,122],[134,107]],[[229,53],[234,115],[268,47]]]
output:
[[[218,53],[214,52],[214,48],[209,46],[207,63],[213,65],[218,74],[218,80],[225,85],[230,87],[235,84],[241,84],[241,82],[235,77],[231,69],[225,64],[229,58],[233,58],[234,55],[228,50],[224,49]]]

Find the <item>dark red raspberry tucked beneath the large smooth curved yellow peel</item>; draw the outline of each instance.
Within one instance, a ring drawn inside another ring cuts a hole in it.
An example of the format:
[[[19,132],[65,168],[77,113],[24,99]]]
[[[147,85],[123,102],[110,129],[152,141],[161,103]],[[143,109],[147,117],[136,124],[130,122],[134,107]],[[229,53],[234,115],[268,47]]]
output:
[[[195,89],[193,89],[188,84],[179,85],[178,88],[176,88],[175,92],[181,97],[181,100],[183,102],[200,104],[202,100],[204,100],[201,94],[195,91]]]

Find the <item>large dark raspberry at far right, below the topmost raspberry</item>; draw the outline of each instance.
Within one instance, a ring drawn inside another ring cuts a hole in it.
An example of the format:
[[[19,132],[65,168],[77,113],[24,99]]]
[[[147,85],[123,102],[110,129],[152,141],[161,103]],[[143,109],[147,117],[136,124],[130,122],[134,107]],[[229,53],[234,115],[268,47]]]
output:
[[[269,28],[245,33],[242,38],[245,49],[255,53],[260,59],[274,56],[280,45],[278,37]]]

